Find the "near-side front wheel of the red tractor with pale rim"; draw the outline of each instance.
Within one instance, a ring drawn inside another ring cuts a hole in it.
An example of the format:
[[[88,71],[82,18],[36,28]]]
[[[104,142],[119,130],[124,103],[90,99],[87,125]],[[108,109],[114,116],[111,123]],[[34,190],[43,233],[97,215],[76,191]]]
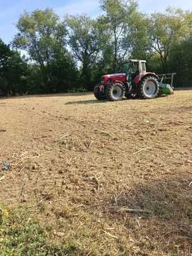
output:
[[[111,101],[122,100],[124,97],[124,86],[121,83],[114,83],[112,85],[107,86],[106,88],[106,97]]]

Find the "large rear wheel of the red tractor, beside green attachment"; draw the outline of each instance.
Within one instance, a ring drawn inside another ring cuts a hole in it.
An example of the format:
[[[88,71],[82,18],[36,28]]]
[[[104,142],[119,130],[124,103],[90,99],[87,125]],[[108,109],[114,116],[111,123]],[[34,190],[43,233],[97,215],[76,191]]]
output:
[[[138,86],[138,97],[146,99],[157,98],[159,90],[157,79],[153,76],[147,76]]]

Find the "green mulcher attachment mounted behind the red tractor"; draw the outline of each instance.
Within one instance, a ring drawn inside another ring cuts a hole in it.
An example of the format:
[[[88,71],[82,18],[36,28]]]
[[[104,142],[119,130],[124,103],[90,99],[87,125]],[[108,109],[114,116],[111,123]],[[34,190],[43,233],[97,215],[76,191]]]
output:
[[[174,94],[173,82],[174,82],[175,75],[176,75],[176,73],[158,75],[158,85],[160,87],[159,95]],[[170,81],[170,84],[163,83],[163,81],[167,81],[167,80]]]

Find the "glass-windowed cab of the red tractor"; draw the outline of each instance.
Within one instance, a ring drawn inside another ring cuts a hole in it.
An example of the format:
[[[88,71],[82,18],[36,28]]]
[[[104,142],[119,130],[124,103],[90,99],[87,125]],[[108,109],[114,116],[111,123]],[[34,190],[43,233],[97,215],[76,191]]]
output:
[[[122,73],[126,73],[127,81],[134,81],[140,73],[146,72],[146,60],[129,60],[122,64]]]

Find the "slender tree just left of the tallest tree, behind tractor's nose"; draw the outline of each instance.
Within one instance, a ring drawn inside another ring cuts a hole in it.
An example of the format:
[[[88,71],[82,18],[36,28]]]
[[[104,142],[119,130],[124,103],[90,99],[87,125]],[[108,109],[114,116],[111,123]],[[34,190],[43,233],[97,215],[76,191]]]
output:
[[[91,81],[91,67],[96,62],[101,49],[102,30],[98,23],[87,15],[67,16],[69,46],[74,57],[81,64],[82,82],[87,89]]]

